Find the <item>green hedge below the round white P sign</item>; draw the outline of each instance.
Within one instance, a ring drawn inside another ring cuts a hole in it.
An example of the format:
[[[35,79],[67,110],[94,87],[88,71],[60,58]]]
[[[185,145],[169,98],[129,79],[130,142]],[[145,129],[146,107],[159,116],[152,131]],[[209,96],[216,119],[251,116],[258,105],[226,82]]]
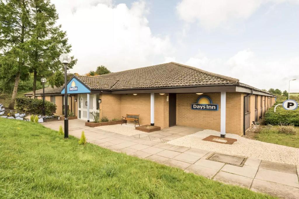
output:
[[[274,106],[277,104],[275,103]],[[299,126],[299,109],[285,110],[282,105],[279,105],[274,112],[274,106],[265,113],[265,124],[279,125],[281,122]]]

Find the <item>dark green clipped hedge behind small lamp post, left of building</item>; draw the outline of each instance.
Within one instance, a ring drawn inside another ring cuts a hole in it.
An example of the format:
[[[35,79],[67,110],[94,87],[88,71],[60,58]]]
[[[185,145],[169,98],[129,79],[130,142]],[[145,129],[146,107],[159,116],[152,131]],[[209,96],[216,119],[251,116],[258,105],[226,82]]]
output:
[[[16,106],[19,110],[33,114],[42,114],[43,100],[31,98],[16,98]],[[45,114],[51,115],[56,110],[56,105],[45,100]]]

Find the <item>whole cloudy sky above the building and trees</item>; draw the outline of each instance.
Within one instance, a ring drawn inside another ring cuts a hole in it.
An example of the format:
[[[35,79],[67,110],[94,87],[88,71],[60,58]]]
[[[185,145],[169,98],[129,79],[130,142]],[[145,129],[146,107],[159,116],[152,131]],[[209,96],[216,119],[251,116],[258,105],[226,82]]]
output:
[[[299,92],[299,0],[51,0],[70,72],[175,61],[259,89]]]

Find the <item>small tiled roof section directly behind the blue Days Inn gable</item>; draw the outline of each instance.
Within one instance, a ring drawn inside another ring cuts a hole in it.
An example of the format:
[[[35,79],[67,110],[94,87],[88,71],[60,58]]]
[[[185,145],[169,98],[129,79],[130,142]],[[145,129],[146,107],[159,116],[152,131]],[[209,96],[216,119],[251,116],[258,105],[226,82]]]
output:
[[[99,78],[91,76],[76,76],[91,89],[111,89],[118,82],[117,79]]]

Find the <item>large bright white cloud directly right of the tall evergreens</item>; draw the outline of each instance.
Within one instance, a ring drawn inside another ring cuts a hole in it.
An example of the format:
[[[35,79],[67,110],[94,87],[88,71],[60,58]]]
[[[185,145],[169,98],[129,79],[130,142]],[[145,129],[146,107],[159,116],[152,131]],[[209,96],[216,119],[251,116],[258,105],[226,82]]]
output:
[[[72,72],[80,74],[105,65],[115,72],[148,66],[171,54],[168,36],[154,36],[148,26],[145,1],[114,5],[112,1],[53,1],[72,54]]]

